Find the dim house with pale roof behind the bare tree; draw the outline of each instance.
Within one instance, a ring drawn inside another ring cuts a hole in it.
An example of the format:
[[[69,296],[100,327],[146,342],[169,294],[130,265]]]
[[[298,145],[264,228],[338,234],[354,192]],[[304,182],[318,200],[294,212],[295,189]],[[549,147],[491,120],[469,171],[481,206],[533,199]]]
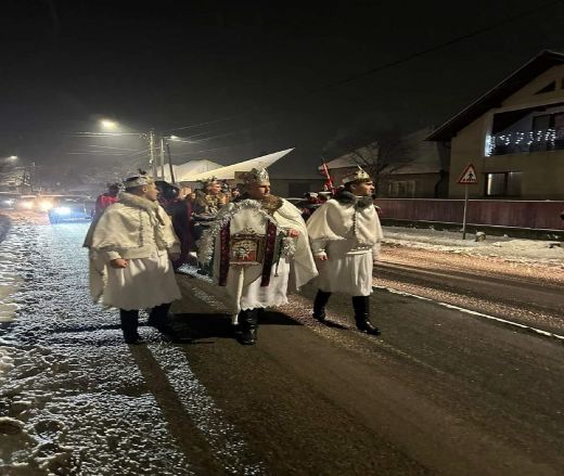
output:
[[[426,127],[401,138],[397,159],[380,172],[380,197],[393,198],[440,198],[448,194],[448,150],[444,144],[425,139],[432,132]],[[351,153],[337,157],[326,164],[335,184],[358,167],[355,158],[360,155],[370,157],[377,154],[374,142]]]

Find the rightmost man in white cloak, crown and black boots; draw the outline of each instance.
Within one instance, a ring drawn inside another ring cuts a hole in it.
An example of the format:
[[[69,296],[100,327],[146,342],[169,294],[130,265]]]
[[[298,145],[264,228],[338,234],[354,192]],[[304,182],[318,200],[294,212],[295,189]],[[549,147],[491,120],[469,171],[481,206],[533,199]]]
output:
[[[372,335],[380,330],[370,320],[372,271],[383,237],[369,175],[358,170],[343,179],[344,190],[321,205],[308,220],[307,230],[318,265],[318,293],[313,318],[325,320],[331,293],[352,296],[357,327]]]

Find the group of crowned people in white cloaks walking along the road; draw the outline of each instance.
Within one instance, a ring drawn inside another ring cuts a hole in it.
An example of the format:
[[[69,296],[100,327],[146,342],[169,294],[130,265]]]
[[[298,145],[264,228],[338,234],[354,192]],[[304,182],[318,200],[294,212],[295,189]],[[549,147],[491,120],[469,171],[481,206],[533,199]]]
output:
[[[265,308],[286,304],[289,290],[308,282],[318,287],[315,319],[325,322],[331,294],[344,293],[352,297],[357,327],[379,335],[369,296],[382,228],[370,177],[360,168],[345,177],[343,189],[307,224],[298,208],[270,193],[266,169],[245,172],[241,181],[229,197],[209,182],[190,210],[197,259],[222,290],[241,343],[255,344]],[[124,189],[93,220],[85,246],[92,297],[118,308],[126,343],[139,344],[140,309],[151,309],[150,325],[171,332],[168,310],[180,298],[174,262],[181,257],[181,231],[159,205],[150,177],[128,178]]]

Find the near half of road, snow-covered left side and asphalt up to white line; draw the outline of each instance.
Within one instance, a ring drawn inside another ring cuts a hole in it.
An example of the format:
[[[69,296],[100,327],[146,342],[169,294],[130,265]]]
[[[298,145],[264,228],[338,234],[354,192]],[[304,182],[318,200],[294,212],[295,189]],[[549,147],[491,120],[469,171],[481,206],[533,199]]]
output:
[[[372,307],[384,334],[373,338],[351,329],[346,299],[331,301],[331,326],[312,322],[308,288],[269,312],[248,348],[216,290],[179,275],[176,329],[194,340],[142,327],[149,344],[128,347],[116,312],[89,301],[85,232],[21,223],[0,244],[2,474],[556,475],[564,465],[555,339],[382,290]]]

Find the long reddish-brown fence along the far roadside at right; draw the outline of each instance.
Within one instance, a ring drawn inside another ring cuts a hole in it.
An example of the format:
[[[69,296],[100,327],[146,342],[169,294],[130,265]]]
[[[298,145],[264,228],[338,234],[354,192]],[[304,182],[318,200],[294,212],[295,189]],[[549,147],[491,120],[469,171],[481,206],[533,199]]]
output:
[[[461,223],[463,200],[377,198],[382,217],[393,220]],[[564,201],[470,200],[466,222],[477,226],[514,227],[534,230],[564,230]]]

